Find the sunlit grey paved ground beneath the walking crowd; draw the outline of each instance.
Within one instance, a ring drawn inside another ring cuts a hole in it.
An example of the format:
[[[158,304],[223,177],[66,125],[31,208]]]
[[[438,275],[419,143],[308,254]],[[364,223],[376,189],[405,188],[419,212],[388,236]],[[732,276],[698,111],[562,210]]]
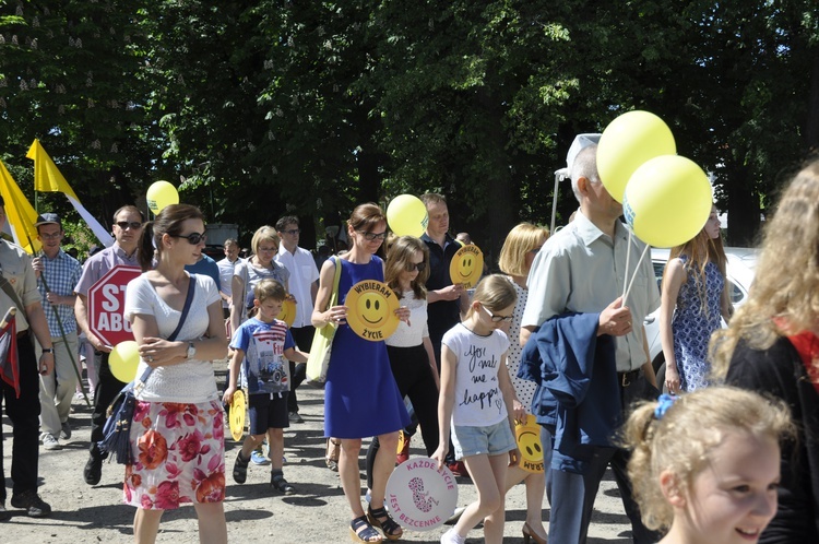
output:
[[[224,366],[219,367],[224,380]],[[299,390],[304,424],[292,426],[285,433],[284,471],[287,480],[297,486],[298,494],[283,497],[269,487],[270,469],[251,465],[248,482],[237,485],[230,477],[237,445],[228,435],[227,499],[225,510],[228,536],[232,542],[268,543],[333,543],[349,542],[348,515],[337,474],[324,466],[324,439],[322,438],[323,391],[310,388]],[[13,543],[97,543],[130,542],[133,508],[122,505],[123,468],[106,463],[99,485],[91,487],[83,482],[82,471],[87,459],[90,409],[74,401],[70,423],[74,428],[71,440],[62,440],[60,451],[40,448],[39,494],[54,508],[48,519],[26,518],[21,510],[12,510],[11,520],[0,522],[0,544]],[[4,459],[7,478],[11,463],[11,426],[3,416]],[[365,445],[366,446],[366,445]],[[420,437],[412,444],[412,454],[423,456]],[[361,466],[364,460],[361,459]],[[9,481],[9,496],[11,482]],[[468,478],[459,478],[459,504],[474,498]],[[507,498],[506,542],[522,542],[521,528],[525,517],[525,497],[522,485]],[[544,509],[548,519],[548,508]],[[610,477],[603,482],[595,505],[590,543],[631,542],[628,520],[622,513],[617,488]],[[404,533],[403,541],[437,543],[442,529],[431,532]],[[482,542],[479,530],[470,533],[467,542]],[[166,512],[157,539],[164,543],[198,542],[197,519],[191,507]]]

